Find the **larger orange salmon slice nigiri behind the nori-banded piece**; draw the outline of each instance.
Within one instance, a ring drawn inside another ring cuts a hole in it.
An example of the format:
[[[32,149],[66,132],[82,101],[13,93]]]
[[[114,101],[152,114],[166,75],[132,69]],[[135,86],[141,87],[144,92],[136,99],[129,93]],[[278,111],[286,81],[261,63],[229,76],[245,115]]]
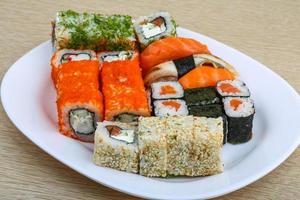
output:
[[[167,37],[157,40],[140,55],[143,75],[160,63],[200,53],[210,54],[206,45],[191,38]]]

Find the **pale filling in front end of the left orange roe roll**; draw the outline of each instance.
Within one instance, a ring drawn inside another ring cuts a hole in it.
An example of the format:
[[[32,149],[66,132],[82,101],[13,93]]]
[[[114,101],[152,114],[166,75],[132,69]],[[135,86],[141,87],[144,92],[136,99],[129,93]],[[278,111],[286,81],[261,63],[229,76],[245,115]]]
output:
[[[78,135],[90,135],[96,130],[95,114],[84,108],[73,109],[69,113],[70,125]]]

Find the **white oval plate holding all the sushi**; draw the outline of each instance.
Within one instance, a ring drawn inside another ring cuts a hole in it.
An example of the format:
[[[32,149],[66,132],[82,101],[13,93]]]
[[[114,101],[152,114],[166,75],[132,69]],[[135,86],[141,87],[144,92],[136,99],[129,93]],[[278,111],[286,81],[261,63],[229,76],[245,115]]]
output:
[[[4,109],[20,131],[57,160],[128,194],[156,199],[196,199],[242,188],[276,168],[299,145],[300,98],[282,78],[239,51],[183,28],[178,28],[178,33],[207,44],[213,54],[233,64],[252,92],[256,107],[253,139],[242,145],[225,145],[222,174],[160,179],[95,166],[91,146],[58,133],[56,96],[50,79],[50,41],[10,67],[1,85]]]

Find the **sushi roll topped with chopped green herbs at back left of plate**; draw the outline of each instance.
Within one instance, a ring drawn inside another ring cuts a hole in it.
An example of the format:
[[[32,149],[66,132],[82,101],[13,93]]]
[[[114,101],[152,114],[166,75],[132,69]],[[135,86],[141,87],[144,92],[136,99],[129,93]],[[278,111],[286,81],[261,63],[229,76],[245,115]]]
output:
[[[61,48],[96,51],[134,49],[134,29],[129,15],[106,16],[72,10],[60,11],[55,34]]]

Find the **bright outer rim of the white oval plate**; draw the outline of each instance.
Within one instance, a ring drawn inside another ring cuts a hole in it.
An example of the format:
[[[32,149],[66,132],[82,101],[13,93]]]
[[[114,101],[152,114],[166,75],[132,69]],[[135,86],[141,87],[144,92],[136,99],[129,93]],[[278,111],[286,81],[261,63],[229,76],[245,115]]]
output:
[[[283,79],[280,75],[278,75],[277,73],[275,73],[273,70],[271,70],[270,68],[264,66],[263,64],[261,64],[260,62],[258,62],[257,60],[251,58],[250,56],[244,54],[243,52],[239,51],[239,50],[236,50],[234,48],[232,48],[231,46],[227,45],[227,44],[224,44],[222,42],[219,42],[213,38],[210,38],[206,35],[203,35],[201,33],[197,33],[197,32],[194,32],[194,31],[191,31],[191,30],[188,30],[188,29],[185,29],[185,28],[182,28],[182,27],[179,27],[178,29],[181,29],[181,31],[183,32],[188,32],[190,34],[198,34],[198,35],[201,35],[202,37],[206,38],[207,40],[210,40],[214,43],[217,43],[218,45],[221,45],[222,47],[225,47],[225,48],[229,48],[231,49],[232,51],[234,51],[234,53],[236,54],[239,54],[239,55],[242,55],[243,57],[246,57],[247,59],[253,61],[253,62],[256,62],[256,64],[259,66],[259,67],[262,67],[264,68],[265,70],[268,71],[268,73],[271,73],[272,76],[275,76],[277,79],[280,80],[280,84],[284,84],[285,87],[287,87],[289,89],[289,92],[295,96],[295,98],[298,100],[297,102],[299,102],[300,104],[300,96],[299,94],[297,93],[297,91],[285,80]],[[69,168],[71,168],[72,170],[75,170],[77,173],[79,174],[82,174],[83,176],[86,176],[88,177],[89,179],[97,182],[97,183],[100,183],[106,187],[109,187],[109,188],[113,188],[114,190],[117,190],[117,191],[120,191],[120,192],[123,192],[123,193],[127,193],[127,194],[130,194],[130,195],[133,195],[133,196],[138,196],[138,197],[143,197],[143,198],[154,198],[154,199],[168,199],[168,196],[164,196],[164,195],[161,195],[161,194],[156,194],[156,196],[150,196],[150,194],[145,194],[145,192],[141,192],[139,193],[139,191],[128,191],[124,188],[121,188],[121,187],[117,187],[115,185],[111,185],[107,182],[103,182],[102,180],[98,180],[98,179],[95,179],[93,176],[90,176],[89,174],[85,174],[83,172],[81,172],[81,170],[77,167],[77,166],[74,166],[74,165],[71,165],[67,160],[65,159],[62,159],[60,158],[59,156],[57,156],[57,154],[55,153],[51,153],[51,150],[47,148],[46,145],[43,145],[42,143],[39,142],[38,139],[36,138],[33,138],[33,137],[30,137],[30,134],[28,133],[25,133],[22,131],[22,129],[15,123],[15,121],[13,120],[13,114],[10,113],[10,111],[8,110],[8,106],[7,106],[7,102],[6,102],[6,99],[4,97],[4,92],[5,90],[3,90],[4,86],[6,85],[7,83],[7,74],[10,74],[12,73],[12,69],[14,68],[15,65],[17,65],[18,62],[20,62],[22,60],[22,58],[26,57],[27,55],[31,54],[32,51],[36,50],[37,48],[42,48],[44,45],[46,45],[47,43],[49,42],[49,40],[39,44],[38,46],[34,47],[33,49],[31,49],[30,51],[26,52],[23,56],[21,56],[20,58],[18,58],[18,60],[16,62],[14,62],[14,64],[12,64],[8,70],[5,72],[3,78],[2,78],[2,81],[1,81],[1,102],[2,102],[2,106],[3,106],[3,109],[4,111],[6,112],[8,118],[10,119],[10,121],[14,124],[14,126],[23,134],[25,135],[26,138],[28,138],[31,142],[33,142],[35,145],[37,145],[40,149],[42,149],[44,152],[46,152],[47,154],[49,154],[50,156],[54,157],[56,160],[58,160],[59,162],[63,163],[64,165],[68,166]],[[4,86],[3,86],[4,85]],[[214,198],[214,197],[217,197],[217,196],[222,196],[222,195],[225,195],[225,194],[228,194],[230,192],[233,192],[233,191],[236,191],[238,189],[241,189],[259,179],[261,179],[262,177],[264,177],[265,175],[269,174],[271,171],[273,171],[274,169],[276,169],[280,164],[282,164],[295,150],[296,148],[299,146],[299,143],[300,143],[300,135],[298,135],[297,139],[294,141],[293,144],[290,145],[290,148],[289,149],[286,149],[284,151],[284,153],[281,153],[281,156],[278,157],[278,159],[276,161],[273,161],[272,163],[270,163],[269,165],[267,165],[266,167],[264,167],[262,170],[260,170],[259,172],[255,173],[255,174],[252,174],[251,176],[249,176],[247,179],[242,179],[241,181],[239,182],[236,182],[234,184],[230,184],[230,186],[226,186],[225,188],[222,188],[220,190],[218,190],[217,192],[214,192],[214,193],[210,193],[209,196],[204,196],[201,195],[201,194],[196,194],[196,195],[193,195],[193,196],[189,196],[188,199],[196,199],[196,198]],[[180,198],[180,197],[179,197]],[[186,197],[185,197],[186,198]]]

